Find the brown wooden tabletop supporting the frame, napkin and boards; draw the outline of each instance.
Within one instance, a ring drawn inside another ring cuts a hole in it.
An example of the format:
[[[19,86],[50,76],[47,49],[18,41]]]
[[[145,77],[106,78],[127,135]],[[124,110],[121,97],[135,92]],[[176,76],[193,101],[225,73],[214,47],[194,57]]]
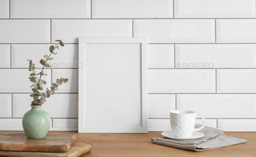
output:
[[[4,134],[22,131],[2,131]],[[3,134],[2,133],[2,134]],[[49,131],[75,134],[75,143],[92,145],[82,157],[256,157],[256,132],[224,132],[224,135],[246,139],[247,142],[209,151],[187,151],[154,144],[151,138],[163,137],[161,132],[148,134],[87,134],[77,131]]]

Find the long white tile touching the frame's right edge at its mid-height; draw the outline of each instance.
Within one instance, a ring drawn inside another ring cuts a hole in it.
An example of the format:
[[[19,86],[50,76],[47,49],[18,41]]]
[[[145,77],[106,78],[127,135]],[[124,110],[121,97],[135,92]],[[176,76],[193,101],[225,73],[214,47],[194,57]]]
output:
[[[148,93],[215,93],[215,70],[148,69]]]

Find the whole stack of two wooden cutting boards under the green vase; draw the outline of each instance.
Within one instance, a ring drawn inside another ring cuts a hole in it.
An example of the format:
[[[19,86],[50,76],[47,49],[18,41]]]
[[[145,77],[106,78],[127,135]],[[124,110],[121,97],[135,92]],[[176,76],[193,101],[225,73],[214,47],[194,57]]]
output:
[[[73,134],[47,134],[28,138],[25,133],[0,136],[0,157],[81,157],[91,151],[90,144],[75,144]]]

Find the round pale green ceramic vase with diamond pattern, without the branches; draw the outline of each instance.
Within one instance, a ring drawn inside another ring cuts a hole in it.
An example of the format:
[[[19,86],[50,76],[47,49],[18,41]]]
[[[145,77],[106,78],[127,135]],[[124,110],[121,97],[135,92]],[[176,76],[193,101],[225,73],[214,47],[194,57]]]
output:
[[[32,106],[22,118],[22,126],[28,138],[44,138],[50,128],[50,116],[42,106]]]

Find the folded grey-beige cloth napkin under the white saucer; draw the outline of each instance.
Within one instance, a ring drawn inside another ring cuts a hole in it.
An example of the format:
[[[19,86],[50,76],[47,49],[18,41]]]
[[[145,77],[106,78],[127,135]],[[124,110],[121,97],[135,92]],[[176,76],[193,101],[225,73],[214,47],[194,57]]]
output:
[[[195,128],[199,128],[200,126],[201,125],[195,125]],[[223,131],[224,130],[205,126],[199,131],[202,132],[204,136],[194,141],[181,142],[171,140],[169,138],[151,138],[151,141],[155,144],[161,144],[190,151],[206,151],[234,144],[241,144],[247,141],[245,139],[233,138],[223,135]]]

